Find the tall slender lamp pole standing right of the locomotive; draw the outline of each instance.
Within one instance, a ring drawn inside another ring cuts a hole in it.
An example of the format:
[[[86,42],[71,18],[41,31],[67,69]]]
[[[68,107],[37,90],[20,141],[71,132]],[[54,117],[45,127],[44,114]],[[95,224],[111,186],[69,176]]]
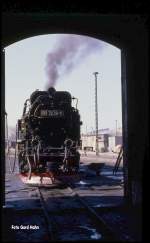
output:
[[[97,104],[97,75],[98,72],[93,73],[95,75],[95,128],[96,128],[96,155],[99,155],[98,149],[98,104]]]

